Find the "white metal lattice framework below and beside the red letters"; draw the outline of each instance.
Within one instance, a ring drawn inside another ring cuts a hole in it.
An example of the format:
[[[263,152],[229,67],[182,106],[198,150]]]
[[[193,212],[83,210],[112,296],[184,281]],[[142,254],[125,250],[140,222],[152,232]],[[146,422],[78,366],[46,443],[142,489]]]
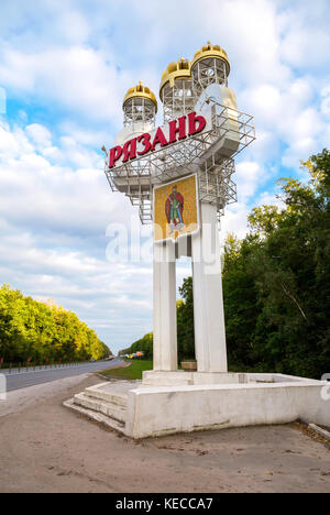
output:
[[[114,191],[124,193],[139,206],[142,223],[152,222],[153,186],[196,173],[199,198],[216,205],[218,213],[237,201],[234,156],[255,140],[253,117],[208,99],[212,106],[207,132],[118,165],[106,175]],[[108,156],[107,156],[108,157]],[[108,160],[107,160],[108,161]]]

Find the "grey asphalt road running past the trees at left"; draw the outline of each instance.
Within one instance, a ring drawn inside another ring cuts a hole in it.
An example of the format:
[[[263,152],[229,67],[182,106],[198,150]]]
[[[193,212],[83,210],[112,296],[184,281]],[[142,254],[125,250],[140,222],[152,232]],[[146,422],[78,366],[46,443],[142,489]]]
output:
[[[118,366],[121,360],[112,361],[99,361],[96,363],[84,363],[78,366],[69,366],[66,369],[55,370],[38,370],[21,372],[16,374],[6,375],[7,379],[7,392],[13,390],[25,388],[26,386],[33,386],[35,384],[50,383],[64,377],[72,377],[73,375],[81,375],[92,372],[98,372],[107,369]]]

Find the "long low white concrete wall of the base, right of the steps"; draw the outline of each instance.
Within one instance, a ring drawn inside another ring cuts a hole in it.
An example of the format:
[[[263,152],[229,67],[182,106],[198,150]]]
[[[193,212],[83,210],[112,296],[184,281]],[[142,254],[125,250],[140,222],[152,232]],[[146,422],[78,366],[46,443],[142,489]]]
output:
[[[288,424],[298,418],[330,425],[330,401],[322,396],[326,382],[280,374],[242,375],[243,384],[145,386],[130,391],[125,434],[145,438]]]

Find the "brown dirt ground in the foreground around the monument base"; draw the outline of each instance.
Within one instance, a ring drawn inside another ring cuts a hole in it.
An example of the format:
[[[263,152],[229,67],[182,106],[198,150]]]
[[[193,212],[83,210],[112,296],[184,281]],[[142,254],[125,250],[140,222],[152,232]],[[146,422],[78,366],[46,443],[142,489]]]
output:
[[[330,452],[299,426],[133,441],[62,405],[100,382],[61,380],[0,403],[1,493],[330,492]]]

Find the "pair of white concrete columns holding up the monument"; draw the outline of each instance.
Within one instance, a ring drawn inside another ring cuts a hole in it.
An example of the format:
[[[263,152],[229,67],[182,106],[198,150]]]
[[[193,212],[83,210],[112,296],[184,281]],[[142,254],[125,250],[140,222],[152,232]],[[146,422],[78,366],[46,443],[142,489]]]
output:
[[[217,207],[200,202],[191,235],[195,348],[199,372],[227,372]],[[154,243],[154,370],[177,371],[175,243]],[[188,245],[186,245],[188,246]]]

